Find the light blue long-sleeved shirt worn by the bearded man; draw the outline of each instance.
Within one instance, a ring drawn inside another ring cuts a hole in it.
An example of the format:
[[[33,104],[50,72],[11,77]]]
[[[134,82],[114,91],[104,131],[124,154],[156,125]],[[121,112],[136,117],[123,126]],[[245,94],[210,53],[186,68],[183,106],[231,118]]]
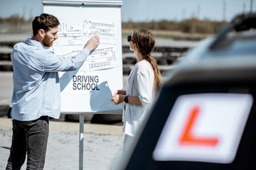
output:
[[[36,40],[14,45],[11,62],[14,68],[14,93],[11,118],[36,120],[42,115],[60,117],[60,82],[58,72],[78,69],[87,56],[86,48],[74,57],[57,57]]]

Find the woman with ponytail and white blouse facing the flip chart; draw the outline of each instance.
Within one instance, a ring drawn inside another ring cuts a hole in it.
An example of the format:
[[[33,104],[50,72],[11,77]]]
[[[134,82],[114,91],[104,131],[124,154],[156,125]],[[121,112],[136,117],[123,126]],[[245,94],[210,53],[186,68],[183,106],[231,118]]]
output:
[[[111,101],[116,105],[124,102],[123,132],[124,151],[142,125],[154,94],[161,84],[158,65],[151,57],[155,41],[149,30],[137,29],[127,38],[130,50],[134,51],[137,63],[129,74],[127,91],[117,90]]]

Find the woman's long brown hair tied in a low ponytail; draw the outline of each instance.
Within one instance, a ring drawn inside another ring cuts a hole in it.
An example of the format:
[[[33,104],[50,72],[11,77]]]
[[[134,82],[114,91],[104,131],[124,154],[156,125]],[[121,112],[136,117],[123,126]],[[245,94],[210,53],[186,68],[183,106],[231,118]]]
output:
[[[154,70],[154,90],[157,91],[161,86],[161,72],[154,58],[150,55],[150,52],[154,50],[154,36],[149,30],[139,28],[132,33],[132,40],[144,56],[144,60],[148,61]]]

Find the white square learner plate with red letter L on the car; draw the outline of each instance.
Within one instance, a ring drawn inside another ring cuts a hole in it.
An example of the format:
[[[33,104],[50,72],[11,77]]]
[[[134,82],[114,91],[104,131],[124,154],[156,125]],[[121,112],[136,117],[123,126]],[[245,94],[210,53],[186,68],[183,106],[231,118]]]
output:
[[[233,162],[252,103],[250,94],[179,96],[154,149],[154,160]]]

